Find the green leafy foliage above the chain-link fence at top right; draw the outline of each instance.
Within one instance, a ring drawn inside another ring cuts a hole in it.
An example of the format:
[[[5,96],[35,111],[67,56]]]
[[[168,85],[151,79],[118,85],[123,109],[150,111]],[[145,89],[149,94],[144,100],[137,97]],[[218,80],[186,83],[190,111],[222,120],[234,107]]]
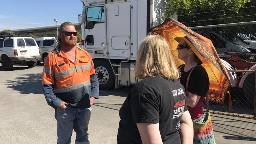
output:
[[[249,4],[250,1],[254,4]],[[184,22],[186,26],[226,24],[256,19],[256,17],[241,17],[249,15],[250,9],[243,7],[255,6],[255,0],[167,0],[167,3],[170,8],[165,11],[164,17],[171,17],[176,13],[178,21]],[[253,9],[255,14],[256,8]]]

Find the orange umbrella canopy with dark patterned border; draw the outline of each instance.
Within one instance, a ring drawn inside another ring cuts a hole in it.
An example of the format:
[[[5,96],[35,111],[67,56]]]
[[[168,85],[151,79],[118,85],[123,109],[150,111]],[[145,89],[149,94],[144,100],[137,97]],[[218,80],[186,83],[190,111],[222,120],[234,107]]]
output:
[[[169,42],[177,65],[184,64],[182,60],[178,59],[176,48],[179,43],[176,41],[177,37],[186,41],[202,61],[202,66],[204,66],[208,73],[210,80],[208,96],[210,100],[221,104],[224,103],[226,92],[230,87],[230,79],[210,39],[199,35],[184,24],[171,18],[161,25],[151,28],[151,34],[161,35]]]

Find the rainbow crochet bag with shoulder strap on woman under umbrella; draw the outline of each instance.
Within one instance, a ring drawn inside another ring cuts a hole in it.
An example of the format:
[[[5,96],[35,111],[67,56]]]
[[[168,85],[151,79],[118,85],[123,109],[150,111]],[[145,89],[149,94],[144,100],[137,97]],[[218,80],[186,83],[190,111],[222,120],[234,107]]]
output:
[[[192,68],[192,70],[195,68],[195,66]],[[190,74],[192,70],[189,73],[189,76],[187,77],[186,81],[186,94],[188,95],[188,80],[190,77]],[[193,127],[194,127],[194,140],[193,144],[216,144],[214,135],[213,135],[213,127],[211,124],[211,115],[210,115],[210,105],[209,105],[209,98],[208,94],[206,95],[206,111],[204,114],[193,121]]]

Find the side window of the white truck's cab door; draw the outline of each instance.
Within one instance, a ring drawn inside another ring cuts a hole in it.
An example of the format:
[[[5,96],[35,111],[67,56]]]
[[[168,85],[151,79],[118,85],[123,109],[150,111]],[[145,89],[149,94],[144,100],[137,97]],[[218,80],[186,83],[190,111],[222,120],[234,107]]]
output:
[[[86,15],[86,28],[91,29],[95,24],[105,22],[105,10],[103,6],[89,7]]]

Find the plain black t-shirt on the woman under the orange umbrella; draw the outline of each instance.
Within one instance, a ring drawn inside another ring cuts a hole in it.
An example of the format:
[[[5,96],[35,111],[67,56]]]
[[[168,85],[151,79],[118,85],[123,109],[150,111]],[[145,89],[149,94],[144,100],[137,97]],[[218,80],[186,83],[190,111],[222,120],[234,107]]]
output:
[[[187,77],[191,72],[192,68],[189,71],[184,72],[184,67],[185,65],[179,66],[181,72],[180,83],[186,89]],[[196,94],[198,96],[206,96],[209,90],[209,85],[209,77],[205,68],[200,65],[196,66],[190,74],[187,90],[190,93]]]

